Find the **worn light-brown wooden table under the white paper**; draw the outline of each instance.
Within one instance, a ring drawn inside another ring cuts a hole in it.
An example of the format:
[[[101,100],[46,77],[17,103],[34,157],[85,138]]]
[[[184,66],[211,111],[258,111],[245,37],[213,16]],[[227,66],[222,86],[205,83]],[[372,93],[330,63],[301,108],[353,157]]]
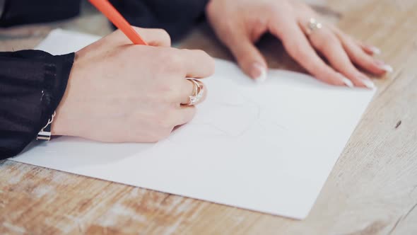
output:
[[[0,161],[0,234],[417,234],[417,1],[327,4],[332,9],[322,8],[327,16],[380,47],[395,71],[376,81],[379,91],[307,219]],[[103,26],[88,29],[86,21]],[[98,34],[109,30],[96,15],[1,30],[0,50],[33,47],[57,25]],[[202,28],[181,46],[230,59]],[[266,38],[260,47],[271,67],[301,70],[279,42]]]

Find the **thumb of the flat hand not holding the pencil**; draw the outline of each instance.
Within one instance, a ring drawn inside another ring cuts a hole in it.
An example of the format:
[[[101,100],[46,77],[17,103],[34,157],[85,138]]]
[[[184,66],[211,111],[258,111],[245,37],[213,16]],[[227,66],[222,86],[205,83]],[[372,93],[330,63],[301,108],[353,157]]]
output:
[[[265,81],[268,69],[265,59],[249,38],[242,36],[232,40],[229,49],[247,76],[255,81]]]

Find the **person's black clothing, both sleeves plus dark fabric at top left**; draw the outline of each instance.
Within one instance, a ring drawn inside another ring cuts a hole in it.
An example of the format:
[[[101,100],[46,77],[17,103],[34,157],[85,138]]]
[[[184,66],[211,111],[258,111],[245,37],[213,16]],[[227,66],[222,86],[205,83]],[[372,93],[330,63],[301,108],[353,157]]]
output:
[[[207,1],[111,0],[132,25],[164,28],[173,39],[203,15]],[[77,16],[80,0],[6,0],[2,9],[0,27],[10,27]],[[73,62],[74,53],[0,52],[0,160],[16,156],[45,126],[64,96]]]

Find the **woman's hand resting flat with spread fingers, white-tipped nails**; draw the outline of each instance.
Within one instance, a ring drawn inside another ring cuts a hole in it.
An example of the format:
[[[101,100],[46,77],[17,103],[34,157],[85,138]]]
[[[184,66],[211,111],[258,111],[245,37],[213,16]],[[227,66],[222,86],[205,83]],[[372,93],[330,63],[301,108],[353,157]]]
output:
[[[211,0],[206,14],[218,38],[253,79],[266,79],[266,62],[254,42],[267,32],[281,39],[293,59],[328,84],[372,88],[372,81],[356,66],[375,75],[392,71],[372,58],[378,52],[376,47],[363,45],[332,25],[324,24],[309,33],[310,18],[319,21],[319,17],[300,1]]]

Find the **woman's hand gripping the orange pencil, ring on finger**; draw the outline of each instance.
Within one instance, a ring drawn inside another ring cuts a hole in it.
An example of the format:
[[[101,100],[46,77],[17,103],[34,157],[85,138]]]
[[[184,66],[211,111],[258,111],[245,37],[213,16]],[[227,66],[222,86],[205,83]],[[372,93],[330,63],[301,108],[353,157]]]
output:
[[[164,30],[136,28],[152,46],[120,31],[76,52],[52,134],[103,142],[157,142],[192,119],[194,84],[214,71],[209,55],[170,47]]]

